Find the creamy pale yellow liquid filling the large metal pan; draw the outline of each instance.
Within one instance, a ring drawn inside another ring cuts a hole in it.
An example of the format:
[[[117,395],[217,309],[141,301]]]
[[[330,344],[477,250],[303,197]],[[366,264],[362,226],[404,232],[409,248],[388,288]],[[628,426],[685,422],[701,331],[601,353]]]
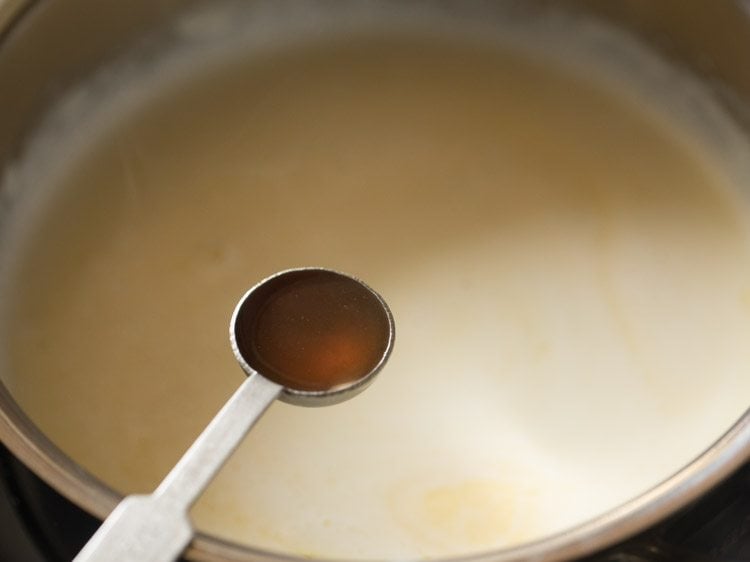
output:
[[[242,380],[239,296],[316,265],[385,297],[394,354],[351,402],[274,405],[201,530],[465,554],[669,476],[750,397],[749,219],[712,139],[744,146],[669,113],[679,87],[519,45],[311,40],[84,120],[6,268],[13,395],[88,470],[149,491]]]

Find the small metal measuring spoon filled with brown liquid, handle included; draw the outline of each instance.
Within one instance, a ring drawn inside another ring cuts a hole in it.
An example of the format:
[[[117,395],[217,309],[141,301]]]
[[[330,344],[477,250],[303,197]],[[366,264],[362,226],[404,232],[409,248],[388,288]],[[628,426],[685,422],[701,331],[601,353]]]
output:
[[[123,499],[75,561],[176,559],[193,537],[190,506],[271,403],[321,406],[353,397],[385,364],[394,335],[385,301],[342,273],[292,269],[258,283],[230,323],[248,378],[156,491]]]

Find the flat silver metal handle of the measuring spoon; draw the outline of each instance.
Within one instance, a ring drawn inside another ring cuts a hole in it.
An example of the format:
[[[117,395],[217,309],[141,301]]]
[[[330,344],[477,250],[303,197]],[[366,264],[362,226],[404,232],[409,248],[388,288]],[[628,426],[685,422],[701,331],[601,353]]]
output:
[[[245,380],[151,495],[126,497],[75,562],[166,562],[193,536],[188,509],[281,393],[253,374]]]

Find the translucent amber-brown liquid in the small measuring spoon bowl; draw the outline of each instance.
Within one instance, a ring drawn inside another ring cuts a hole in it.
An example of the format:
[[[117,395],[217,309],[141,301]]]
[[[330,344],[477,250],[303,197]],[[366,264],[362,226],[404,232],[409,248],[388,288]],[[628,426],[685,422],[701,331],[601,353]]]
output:
[[[388,313],[360,282],[327,270],[297,270],[255,289],[237,312],[235,338],[247,363],[294,390],[354,383],[382,360]]]

